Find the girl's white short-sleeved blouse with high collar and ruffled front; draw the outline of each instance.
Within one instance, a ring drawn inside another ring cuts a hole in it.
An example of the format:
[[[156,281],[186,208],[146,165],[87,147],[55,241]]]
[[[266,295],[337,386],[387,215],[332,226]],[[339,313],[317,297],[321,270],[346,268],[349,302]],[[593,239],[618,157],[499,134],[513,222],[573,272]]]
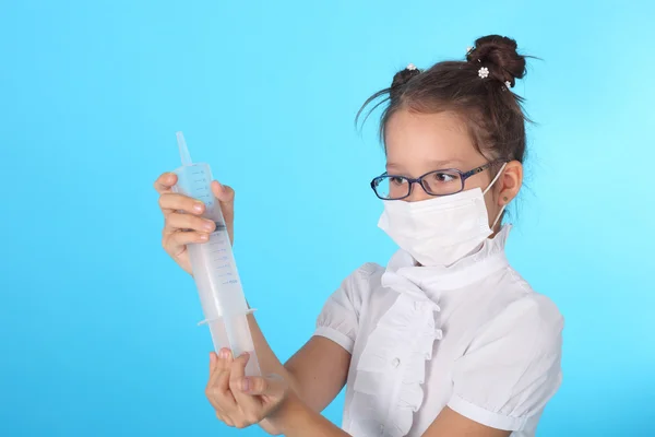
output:
[[[353,355],[344,430],[418,437],[448,405],[513,437],[535,435],[561,383],[563,318],[510,267],[510,228],[448,268],[415,267],[398,250],[327,299],[315,334]]]

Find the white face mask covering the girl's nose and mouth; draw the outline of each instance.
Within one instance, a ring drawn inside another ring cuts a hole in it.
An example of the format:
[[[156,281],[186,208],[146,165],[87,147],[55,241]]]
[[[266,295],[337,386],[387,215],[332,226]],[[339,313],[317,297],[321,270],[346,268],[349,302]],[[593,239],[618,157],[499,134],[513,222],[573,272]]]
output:
[[[485,194],[505,165],[485,191],[474,188],[419,202],[385,200],[378,226],[420,264],[453,264],[491,235],[500,220],[505,206],[489,227]]]

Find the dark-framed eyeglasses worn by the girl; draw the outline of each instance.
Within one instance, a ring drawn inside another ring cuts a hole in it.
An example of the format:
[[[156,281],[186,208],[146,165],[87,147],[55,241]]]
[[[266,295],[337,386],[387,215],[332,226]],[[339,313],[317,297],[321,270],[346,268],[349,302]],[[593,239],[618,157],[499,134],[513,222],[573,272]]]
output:
[[[433,170],[413,179],[407,176],[389,175],[383,173],[371,180],[371,188],[382,200],[401,200],[409,197],[412,186],[417,182],[430,196],[450,196],[464,190],[464,181],[489,168],[496,162],[490,162],[466,173],[455,168]]]

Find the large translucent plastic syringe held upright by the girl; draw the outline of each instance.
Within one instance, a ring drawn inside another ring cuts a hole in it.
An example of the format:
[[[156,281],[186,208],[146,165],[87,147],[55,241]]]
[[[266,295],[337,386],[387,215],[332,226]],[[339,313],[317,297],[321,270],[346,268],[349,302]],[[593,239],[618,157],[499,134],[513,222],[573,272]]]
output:
[[[200,295],[205,320],[210,326],[214,349],[229,347],[235,357],[243,352],[250,354],[246,366],[247,376],[260,376],[261,371],[250,328],[248,309],[237,264],[219,203],[212,193],[212,172],[204,163],[192,163],[182,132],[177,132],[182,166],[175,170],[178,181],[175,191],[198,199],[205,204],[202,215],[216,224],[206,243],[187,246],[193,269],[193,279]]]

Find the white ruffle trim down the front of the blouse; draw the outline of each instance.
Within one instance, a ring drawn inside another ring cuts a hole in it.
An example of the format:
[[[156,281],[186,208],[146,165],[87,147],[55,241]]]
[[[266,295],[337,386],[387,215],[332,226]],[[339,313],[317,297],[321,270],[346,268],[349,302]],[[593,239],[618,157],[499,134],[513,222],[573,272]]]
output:
[[[425,296],[401,293],[382,316],[357,364],[352,435],[402,437],[409,432],[424,402],[426,361],[442,336],[434,320],[439,311]]]

